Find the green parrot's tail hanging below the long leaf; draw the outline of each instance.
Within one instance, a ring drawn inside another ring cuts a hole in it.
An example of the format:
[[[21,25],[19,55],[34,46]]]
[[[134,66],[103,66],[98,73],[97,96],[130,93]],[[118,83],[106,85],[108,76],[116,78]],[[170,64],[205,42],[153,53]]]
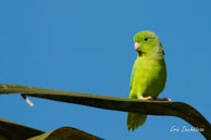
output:
[[[138,114],[138,113],[128,113],[127,114],[127,129],[135,130],[139,126],[144,125],[147,119],[147,115]]]

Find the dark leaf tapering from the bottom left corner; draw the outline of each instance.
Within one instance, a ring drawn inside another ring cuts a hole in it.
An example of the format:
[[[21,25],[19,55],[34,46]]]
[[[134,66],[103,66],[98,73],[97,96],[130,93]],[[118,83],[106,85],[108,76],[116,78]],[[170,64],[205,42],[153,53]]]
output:
[[[40,130],[0,118],[0,140],[26,140],[41,133]]]

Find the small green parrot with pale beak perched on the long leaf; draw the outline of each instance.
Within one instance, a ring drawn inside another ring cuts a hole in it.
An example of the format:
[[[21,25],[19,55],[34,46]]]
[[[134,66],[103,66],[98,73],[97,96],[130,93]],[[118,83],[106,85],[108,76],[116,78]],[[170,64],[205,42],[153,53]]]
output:
[[[129,99],[153,100],[165,87],[166,67],[164,51],[157,35],[149,30],[134,37],[137,59],[131,76]],[[163,99],[162,101],[171,101]],[[147,115],[128,113],[127,129],[135,130],[144,125]]]

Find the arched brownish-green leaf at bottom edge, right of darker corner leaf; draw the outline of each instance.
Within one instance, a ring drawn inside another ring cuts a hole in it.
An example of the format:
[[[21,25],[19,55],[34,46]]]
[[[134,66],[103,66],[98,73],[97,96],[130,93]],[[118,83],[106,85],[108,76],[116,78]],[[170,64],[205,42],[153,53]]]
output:
[[[44,135],[33,137],[29,140],[102,140],[102,139],[75,128],[61,127],[59,129],[46,132]]]

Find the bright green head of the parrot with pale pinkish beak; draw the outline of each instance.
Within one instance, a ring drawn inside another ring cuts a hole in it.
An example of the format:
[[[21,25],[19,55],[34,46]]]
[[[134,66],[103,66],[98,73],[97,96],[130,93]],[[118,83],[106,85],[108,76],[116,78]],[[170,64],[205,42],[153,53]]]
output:
[[[134,37],[135,49],[139,55],[164,55],[162,44],[157,35],[149,30],[139,31]]]

